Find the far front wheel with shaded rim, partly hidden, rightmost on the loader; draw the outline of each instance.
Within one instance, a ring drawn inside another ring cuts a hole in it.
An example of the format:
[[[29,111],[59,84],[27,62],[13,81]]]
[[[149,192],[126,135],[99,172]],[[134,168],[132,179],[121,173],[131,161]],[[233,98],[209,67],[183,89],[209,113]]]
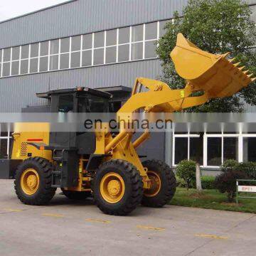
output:
[[[142,205],[162,207],[171,201],[176,191],[176,178],[170,166],[162,161],[148,160],[142,163],[148,169],[151,188],[144,190]]]

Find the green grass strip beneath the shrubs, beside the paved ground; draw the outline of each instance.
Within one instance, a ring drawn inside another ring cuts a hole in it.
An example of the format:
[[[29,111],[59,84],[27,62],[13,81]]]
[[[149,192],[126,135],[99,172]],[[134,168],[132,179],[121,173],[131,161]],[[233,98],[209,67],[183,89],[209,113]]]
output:
[[[250,196],[253,196],[253,194]],[[196,189],[193,188],[190,188],[188,191],[186,188],[177,188],[170,204],[174,206],[256,213],[256,199],[240,199],[237,206],[236,203],[228,203],[226,194],[219,193],[215,189],[208,189],[202,193],[197,193]]]

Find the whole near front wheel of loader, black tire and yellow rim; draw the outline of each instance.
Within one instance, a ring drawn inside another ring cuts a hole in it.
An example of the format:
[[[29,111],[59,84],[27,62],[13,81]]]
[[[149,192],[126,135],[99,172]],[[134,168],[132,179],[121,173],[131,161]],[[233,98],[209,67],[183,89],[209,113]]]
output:
[[[97,169],[93,192],[95,203],[103,213],[127,215],[142,201],[142,177],[129,162],[110,160]]]

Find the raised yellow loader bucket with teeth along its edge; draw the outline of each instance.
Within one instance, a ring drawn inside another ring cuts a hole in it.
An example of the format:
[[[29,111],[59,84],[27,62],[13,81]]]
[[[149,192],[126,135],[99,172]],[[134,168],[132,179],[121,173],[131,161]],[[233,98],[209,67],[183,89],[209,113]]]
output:
[[[228,97],[240,91],[253,82],[255,78],[248,75],[248,70],[242,71],[240,63],[222,55],[207,53],[195,46],[178,33],[177,43],[171,52],[171,58],[178,75],[186,79],[195,90],[203,90],[208,97]]]

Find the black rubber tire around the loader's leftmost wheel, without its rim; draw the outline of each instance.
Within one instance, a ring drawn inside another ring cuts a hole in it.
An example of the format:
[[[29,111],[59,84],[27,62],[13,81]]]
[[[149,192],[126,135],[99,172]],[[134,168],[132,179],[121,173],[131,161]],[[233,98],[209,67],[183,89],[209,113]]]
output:
[[[21,188],[21,175],[28,168],[33,168],[38,172],[40,183],[38,191],[29,196]],[[31,157],[23,161],[16,170],[14,189],[18,199],[27,205],[43,206],[50,202],[55,195],[56,188],[51,187],[52,183],[52,164],[47,159],[41,157]]]

